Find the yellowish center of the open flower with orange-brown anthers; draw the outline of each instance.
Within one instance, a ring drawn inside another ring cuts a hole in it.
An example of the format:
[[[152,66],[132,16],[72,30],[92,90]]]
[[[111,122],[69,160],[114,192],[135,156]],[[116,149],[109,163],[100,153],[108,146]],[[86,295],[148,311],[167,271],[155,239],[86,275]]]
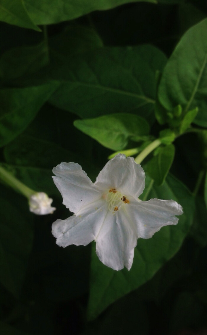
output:
[[[115,214],[124,204],[128,204],[130,201],[116,189],[110,189],[106,195],[106,201],[108,202],[108,209],[110,212]]]

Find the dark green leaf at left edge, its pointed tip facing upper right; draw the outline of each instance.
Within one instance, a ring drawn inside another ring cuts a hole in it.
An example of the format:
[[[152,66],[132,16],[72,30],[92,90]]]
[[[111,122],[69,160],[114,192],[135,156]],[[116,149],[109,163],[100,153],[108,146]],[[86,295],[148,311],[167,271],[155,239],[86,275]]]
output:
[[[0,146],[27,128],[57,86],[53,81],[41,86],[0,89]]]

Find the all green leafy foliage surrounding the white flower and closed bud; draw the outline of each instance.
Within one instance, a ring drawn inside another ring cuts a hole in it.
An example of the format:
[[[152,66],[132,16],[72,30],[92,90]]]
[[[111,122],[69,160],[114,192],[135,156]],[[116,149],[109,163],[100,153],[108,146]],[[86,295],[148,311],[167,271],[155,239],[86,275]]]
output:
[[[0,180],[2,335],[207,329],[207,7],[157,2],[0,0],[1,166],[56,207],[30,213]],[[74,161],[94,182],[119,152],[141,157],[141,200],[184,210],[138,240],[130,271],[51,234],[72,215],[53,167]]]

